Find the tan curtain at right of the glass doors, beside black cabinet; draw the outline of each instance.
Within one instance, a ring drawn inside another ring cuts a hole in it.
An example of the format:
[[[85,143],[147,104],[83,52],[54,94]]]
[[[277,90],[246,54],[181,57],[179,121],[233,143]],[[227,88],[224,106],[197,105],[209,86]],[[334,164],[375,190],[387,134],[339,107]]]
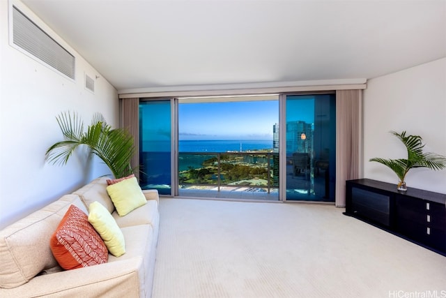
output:
[[[336,207],[346,205],[346,180],[360,177],[361,90],[336,91]]]

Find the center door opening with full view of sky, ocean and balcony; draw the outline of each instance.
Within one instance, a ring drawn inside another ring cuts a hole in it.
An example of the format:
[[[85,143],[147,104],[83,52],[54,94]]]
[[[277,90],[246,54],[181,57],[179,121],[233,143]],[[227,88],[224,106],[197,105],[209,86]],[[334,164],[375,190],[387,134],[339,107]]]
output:
[[[212,197],[222,191],[220,197],[266,199],[264,194],[275,193],[268,200],[278,200],[279,171],[273,170],[278,168],[273,158],[278,156],[273,152],[278,99],[273,95],[180,100],[179,194]]]

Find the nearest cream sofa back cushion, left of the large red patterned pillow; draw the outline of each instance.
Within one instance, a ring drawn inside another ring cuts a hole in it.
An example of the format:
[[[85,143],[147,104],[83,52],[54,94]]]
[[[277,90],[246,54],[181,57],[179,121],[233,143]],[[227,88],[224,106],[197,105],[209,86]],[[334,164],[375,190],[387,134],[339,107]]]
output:
[[[1,288],[15,288],[57,267],[49,239],[71,204],[86,211],[77,195],[64,195],[0,231]]]

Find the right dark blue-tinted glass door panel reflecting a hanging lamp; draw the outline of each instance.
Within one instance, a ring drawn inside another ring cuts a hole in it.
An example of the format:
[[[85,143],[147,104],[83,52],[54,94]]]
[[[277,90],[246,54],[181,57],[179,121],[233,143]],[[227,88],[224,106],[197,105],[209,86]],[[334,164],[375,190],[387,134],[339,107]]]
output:
[[[334,94],[286,96],[286,200],[334,202]]]

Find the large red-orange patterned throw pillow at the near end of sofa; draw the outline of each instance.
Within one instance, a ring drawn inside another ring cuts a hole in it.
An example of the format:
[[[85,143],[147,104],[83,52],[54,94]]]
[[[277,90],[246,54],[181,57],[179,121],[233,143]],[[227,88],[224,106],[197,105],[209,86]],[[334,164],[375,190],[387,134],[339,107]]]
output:
[[[63,269],[106,263],[108,250],[88,216],[71,205],[52,235],[49,246]]]

